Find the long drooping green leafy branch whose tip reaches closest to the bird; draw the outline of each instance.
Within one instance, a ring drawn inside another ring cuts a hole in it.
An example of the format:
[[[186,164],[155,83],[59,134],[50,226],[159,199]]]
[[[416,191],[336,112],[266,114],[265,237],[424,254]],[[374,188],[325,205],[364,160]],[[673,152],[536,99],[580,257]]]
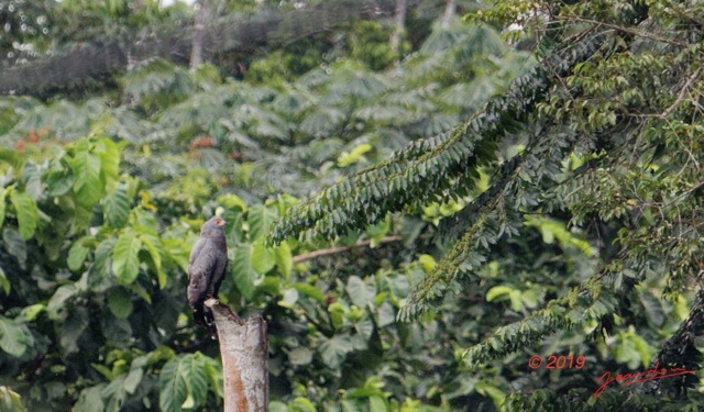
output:
[[[462,196],[450,192],[458,179],[472,187],[480,160],[493,159],[497,142],[527,120],[557,76],[592,56],[602,35],[564,45],[501,97],[452,131],[418,141],[388,160],[322,190],[289,211],[273,229],[271,242],[304,233],[333,237],[371,224],[407,205],[418,207]]]

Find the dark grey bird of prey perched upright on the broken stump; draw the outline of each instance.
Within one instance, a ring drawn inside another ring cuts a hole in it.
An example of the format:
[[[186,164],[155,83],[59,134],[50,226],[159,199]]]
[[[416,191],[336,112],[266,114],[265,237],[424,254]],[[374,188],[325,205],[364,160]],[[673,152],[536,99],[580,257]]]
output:
[[[204,302],[209,298],[218,298],[228,269],[224,225],[226,221],[221,218],[212,218],[202,225],[188,265],[188,304],[194,310],[196,322],[206,326],[212,338],[216,337],[215,320]]]

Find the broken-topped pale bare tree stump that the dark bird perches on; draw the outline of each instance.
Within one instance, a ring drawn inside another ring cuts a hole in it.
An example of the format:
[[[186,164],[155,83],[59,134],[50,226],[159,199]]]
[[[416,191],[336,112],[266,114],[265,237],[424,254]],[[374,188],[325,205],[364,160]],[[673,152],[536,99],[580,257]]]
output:
[[[208,299],[218,327],[224,412],[268,410],[268,341],[261,315],[241,320],[217,299]]]

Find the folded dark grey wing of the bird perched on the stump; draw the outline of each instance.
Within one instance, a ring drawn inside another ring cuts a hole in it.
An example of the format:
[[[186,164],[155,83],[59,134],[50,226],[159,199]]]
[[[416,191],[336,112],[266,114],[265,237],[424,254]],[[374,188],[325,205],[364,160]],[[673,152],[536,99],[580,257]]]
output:
[[[212,283],[213,270],[218,264],[217,249],[212,242],[201,237],[190,254],[188,266],[188,303],[198,305],[206,300],[208,288]]]

